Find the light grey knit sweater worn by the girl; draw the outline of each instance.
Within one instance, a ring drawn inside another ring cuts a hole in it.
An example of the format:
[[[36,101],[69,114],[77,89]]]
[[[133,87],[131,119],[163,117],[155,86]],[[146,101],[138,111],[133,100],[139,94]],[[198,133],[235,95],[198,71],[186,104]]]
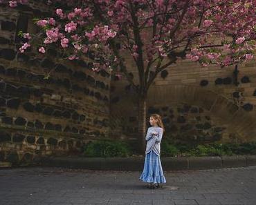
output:
[[[157,135],[152,135],[152,132],[157,132]],[[160,144],[163,137],[163,128],[161,127],[149,127],[147,128],[147,147],[146,147],[146,154],[149,153],[151,150],[156,153],[156,155],[160,156]]]

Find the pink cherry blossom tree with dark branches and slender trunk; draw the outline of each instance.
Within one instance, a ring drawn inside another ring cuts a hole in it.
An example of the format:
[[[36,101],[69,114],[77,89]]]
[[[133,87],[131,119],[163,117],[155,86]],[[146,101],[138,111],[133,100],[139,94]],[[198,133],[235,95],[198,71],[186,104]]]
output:
[[[5,1],[10,7],[26,0]],[[47,1],[52,17],[38,19],[49,44],[75,60],[89,52],[93,70],[112,70],[125,77],[138,94],[140,151],[145,150],[147,92],[162,70],[183,59],[221,67],[253,59],[256,38],[255,0],[80,0]],[[68,6],[67,6],[68,5]],[[67,8],[67,9],[66,9]],[[30,46],[29,39],[21,48]],[[33,38],[32,38],[33,39]],[[134,60],[138,83],[129,73],[124,53]]]

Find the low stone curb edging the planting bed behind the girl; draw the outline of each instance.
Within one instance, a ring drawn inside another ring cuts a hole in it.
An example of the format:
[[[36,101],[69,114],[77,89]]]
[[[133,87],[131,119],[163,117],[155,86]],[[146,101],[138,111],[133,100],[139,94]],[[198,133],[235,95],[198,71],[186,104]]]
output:
[[[89,170],[143,170],[145,157],[39,157],[34,161],[39,166],[78,168]],[[164,171],[234,168],[256,165],[256,155],[222,157],[161,157]]]

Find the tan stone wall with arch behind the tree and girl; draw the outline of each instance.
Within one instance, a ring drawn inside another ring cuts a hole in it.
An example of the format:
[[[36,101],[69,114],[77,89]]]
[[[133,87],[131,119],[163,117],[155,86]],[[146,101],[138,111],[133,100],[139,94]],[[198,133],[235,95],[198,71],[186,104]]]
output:
[[[134,63],[129,72],[138,81]],[[192,61],[178,61],[163,70],[149,89],[149,114],[162,116],[165,137],[185,143],[252,141],[256,139],[256,64],[237,67],[202,67]],[[138,106],[128,81],[111,82],[112,126],[128,139],[138,133]],[[120,128],[121,127],[121,128]],[[116,133],[116,135],[118,135]]]

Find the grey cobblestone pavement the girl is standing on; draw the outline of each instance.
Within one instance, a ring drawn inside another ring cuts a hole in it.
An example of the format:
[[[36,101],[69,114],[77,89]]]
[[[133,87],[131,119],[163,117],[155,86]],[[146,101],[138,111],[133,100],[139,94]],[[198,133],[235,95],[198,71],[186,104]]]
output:
[[[165,172],[149,189],[140,172],[8,168],[0,170],[1,205],[256,204],[256,166]]]

